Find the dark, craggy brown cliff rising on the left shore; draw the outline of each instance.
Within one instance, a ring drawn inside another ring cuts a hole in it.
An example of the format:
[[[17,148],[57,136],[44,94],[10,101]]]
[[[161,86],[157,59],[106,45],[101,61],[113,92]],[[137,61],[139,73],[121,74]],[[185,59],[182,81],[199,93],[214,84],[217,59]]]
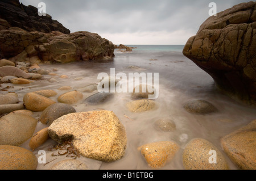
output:
[[[0,0],[0,59],[11,61],[71,62],[114,57],[114,44],[97,33],[70,33],[51,16],[19,0]]]

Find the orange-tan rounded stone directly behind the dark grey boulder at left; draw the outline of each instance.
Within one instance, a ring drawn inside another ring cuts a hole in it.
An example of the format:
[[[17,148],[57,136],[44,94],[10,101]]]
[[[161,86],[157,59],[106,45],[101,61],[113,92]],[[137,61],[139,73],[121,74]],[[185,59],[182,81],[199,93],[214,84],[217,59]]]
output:
[[[45,96],[30,92],[24,95],[23,103],[26,106],[27,110],[39,112],[44,111],[48,106],[51,106],[56,102],[49,98],[46,98]]]

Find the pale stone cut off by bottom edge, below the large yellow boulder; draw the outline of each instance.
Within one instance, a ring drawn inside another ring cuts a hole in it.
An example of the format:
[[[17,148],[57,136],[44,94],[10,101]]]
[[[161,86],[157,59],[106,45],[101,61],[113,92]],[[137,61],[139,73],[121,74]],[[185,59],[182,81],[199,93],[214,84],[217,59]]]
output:
[[[51,167],[51,170],[88,170],[88,167],[76,159],[65,159]]]

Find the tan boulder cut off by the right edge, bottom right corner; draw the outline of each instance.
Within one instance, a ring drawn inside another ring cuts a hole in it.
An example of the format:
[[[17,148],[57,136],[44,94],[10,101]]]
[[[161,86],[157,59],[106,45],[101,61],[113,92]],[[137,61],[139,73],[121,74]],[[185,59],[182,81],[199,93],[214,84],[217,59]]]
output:
[[[240,169],[256,169],[256,120],[221,138],[225,153]]]

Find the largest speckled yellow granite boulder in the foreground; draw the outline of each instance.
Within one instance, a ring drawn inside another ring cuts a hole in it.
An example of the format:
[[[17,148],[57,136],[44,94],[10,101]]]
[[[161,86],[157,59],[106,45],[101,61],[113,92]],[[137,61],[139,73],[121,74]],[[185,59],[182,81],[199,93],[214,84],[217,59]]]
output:
[[[112,162],[125,154],[126,131],[112,111],[64,115],[51,124],[48,133],[59,143],[72,139],[73,146],[84,157]]]

